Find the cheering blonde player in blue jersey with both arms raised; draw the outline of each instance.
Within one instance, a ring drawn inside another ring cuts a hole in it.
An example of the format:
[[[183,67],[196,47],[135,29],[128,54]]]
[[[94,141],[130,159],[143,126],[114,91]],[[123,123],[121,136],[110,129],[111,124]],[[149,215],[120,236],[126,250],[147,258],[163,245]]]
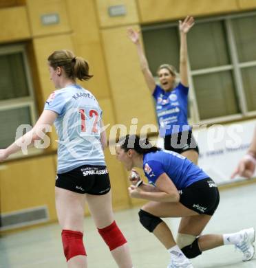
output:
[[[192,135],[191,126],[187,121],[189,80],[187,73],[186,34],[194,25],[194,19],[187,16],[179,22],[180,29],[180,82],[177,80],[175,68],[169,64],[160,65],[157,74],[160,85],[149,69],[147,58],[140,44],[139,32],[129,28],[128,36],[136,45],[142,74],[147,87],[156,100],[159,134],[164,138],[164,148],[173,150],[198,163],[198,145]],[[171,47],[170,47],[171,49]]]

